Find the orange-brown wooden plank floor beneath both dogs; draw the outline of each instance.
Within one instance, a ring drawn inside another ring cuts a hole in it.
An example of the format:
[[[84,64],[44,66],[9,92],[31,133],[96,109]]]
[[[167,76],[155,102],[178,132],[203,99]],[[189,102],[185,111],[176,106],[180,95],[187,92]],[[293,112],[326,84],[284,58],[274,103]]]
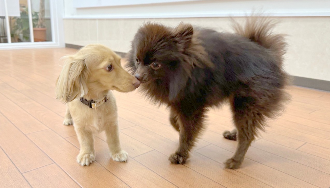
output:
[[[185,165],[168,156],[178,145],[168,111],[137,92],[117,98],[120,141],[127,163],[110,159],[105,135],[95,137],[96,161],[76,162],[73,126],[62,125],[65,105],[54,98],[59,58],[74,49],[0,51],[0,187],[227,187],[329,188],[330,93],[292,87],[287,111],[249,148],[242,168],[223,169],[237,142],[227,106],[212,110]]]

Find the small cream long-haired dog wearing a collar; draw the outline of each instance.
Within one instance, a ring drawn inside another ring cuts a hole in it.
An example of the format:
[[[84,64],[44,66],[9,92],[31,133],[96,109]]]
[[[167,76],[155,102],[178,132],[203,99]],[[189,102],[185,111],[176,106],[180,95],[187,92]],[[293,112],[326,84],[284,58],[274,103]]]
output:
[[[67,103],[64,124],[74,122],[80,143],[77,162],[84,166],[95,159],[93,133],[105,131],[111,158],[127,160],[119,144],[117,105],[109,92],[130,92],[140,85],[120,65],[120,57],[100,44],[89,44],[76,54],[64,57],[64,67],[57,78],[57,99]]]

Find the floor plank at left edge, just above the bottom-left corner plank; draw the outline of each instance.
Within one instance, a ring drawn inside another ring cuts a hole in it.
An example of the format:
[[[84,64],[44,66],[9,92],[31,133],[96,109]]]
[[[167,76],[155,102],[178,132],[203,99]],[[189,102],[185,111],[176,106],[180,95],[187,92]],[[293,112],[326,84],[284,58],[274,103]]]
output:
[[[1,114],[0,147],[21,173],[53,163],[41,149]]]

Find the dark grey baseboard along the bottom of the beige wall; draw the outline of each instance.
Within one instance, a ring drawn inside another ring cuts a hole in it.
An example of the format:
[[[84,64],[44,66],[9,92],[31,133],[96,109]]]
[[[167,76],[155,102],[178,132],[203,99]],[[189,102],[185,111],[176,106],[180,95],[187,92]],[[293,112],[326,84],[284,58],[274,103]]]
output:
[[[83,46],[75,45],[75,44],[67,44],[65,43],[65,47],[67,48],[74,48],[74,49],[80,49]],[[125,52],[116,52],[121,57],[125,57]],[[293,77],[293,85],[305,87],[305,88],[311,88],[316,90],[323,90],[330,92],[330,81],[327,80],[318,80],[314,78],[305,78],[300,76],[292,76]]]

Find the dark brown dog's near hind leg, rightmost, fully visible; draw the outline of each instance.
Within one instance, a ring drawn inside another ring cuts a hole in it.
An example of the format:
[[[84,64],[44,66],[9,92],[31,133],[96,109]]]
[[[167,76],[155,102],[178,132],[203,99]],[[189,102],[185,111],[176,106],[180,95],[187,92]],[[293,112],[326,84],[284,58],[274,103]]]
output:
[[[225,165],[229,169],[238,169],[258,130],[263,130],[264,116],[253,106],[253,99],[250,97],[235,97],[232,109],[237,128],[238,146],[234,156],[228,159]]]

